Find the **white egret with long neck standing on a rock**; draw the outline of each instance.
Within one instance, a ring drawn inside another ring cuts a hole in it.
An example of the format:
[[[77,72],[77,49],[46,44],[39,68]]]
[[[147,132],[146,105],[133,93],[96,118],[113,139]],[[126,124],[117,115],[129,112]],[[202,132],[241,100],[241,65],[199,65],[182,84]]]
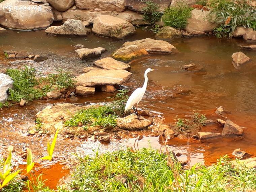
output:
[[[138,120],[139,120],[139,115],[138,115],[138,104],[139,102],[141,101],[142,97],[144,96],[145,92],[146,92],[146,89],[147,89],[147,85],[148,85],[148,76],[147,74],[151,71],[154,71],[154,70],[157,70],[157,69],[151,69],[151,68],[148,68],[145,73],[144,73],[144,77],[145,77],[145,82],[143,84],[143,87],[139,87],[137,89],[135,89],[133,91],[133,93],[131,94],[131,96],[129,97],[126,105],[125,105],[125,109],[124,109],[124,114],[126,113],[127,110],[133,108],[135,114],[137,115],[138,117]],[[134,109],[134,105],[136,104],[136,110]]]

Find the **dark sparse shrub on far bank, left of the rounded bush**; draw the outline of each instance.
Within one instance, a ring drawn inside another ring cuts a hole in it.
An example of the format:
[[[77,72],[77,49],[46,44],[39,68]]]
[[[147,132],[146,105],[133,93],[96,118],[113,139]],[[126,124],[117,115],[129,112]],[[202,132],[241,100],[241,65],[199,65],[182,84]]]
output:
[[[150,22],[150,24],[154,24],[162,17],[163,12],[158,11],[159,5],[154,1],[148,0],[143,2],[147,5],[142,9],[143,20]]]

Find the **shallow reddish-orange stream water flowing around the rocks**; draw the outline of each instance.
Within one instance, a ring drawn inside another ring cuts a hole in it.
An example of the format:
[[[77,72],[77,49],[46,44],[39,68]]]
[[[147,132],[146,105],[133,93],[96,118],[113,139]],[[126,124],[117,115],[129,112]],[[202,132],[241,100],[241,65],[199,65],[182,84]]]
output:
[[[126,40],[136,40],[152,37],[151,33],[138,30],[137,34]],[[10,31],[7,35],[0,36],[0,53],[3,50],[27,50],[32,53],[57,54],[43,63],[9,62],[0,58],[0,67],[33,66],[43,73],[52,72],[55,68],[63,68],[74,73],[82,72],[83,67],[90,66],[94,60],[80,61],[73,53],[72,44],[85,44],[88,48],[102,46],[108,49],[101,57],[106,57],[115,49],[118,49],[125,40],[112,40],[109,38],[89,35],[87,37],[56,37],[46,36],[43,31],[17,32]],[[148,89],[139,107],[149,109],[166,118],[166,122],[173,122],[173,117],[178,115],[185,118],[191,115],[193,110],[201,110],[208,119],[219,118],[214,111],[217,107],[224,108],[231,113],[228,119],[236,124],[246,127],[245,138],[215,139],[206,142],[171,139],[168,145],[174,152],[183,155],[181,160],[188,160],[193,165],[204,161],[209,165],[219,156],[230,155],[234,149],[242,148],[252,156],[256,155],[256,55],[255,52],[243,51],[252,62],[245,64],[237,70],[232,65],[231,55],[241,51],[240,45],[247,44],[241,39],[219,40],[214,37],[201,37],[191,39],[178,39],[171,42],[180,53],[175,55],[156,55],[136,60],[131,65],[133,73],[132,82],[124,86],[131,91],[143,84],[143,73],[148,68],[158,71],[149,73]],[[202,69],[199,71],[184,71],[183,64],[195,63]],[[191,94],[172,98],[175,89],[190,90]],[[104,101],[106,97],[114,96],[107,93],[96,93],[94,96],[80,98],[79,104]],[[27,129],[34,124],[35,114],[45,106],[64,101],[34,101],[31,105],[20,107],[13,106],[0,111],[0,154],[5,154],[8,145],[13,145],[17,151],[22,147],[30,147],[36,157],[45,155],[46,142],[49,137],[28,137]],[[212,124],[202,128],[202,131],[221,132],[222,128]],[[111,139],[109,145],[99,142],[79,141],[58,138],[55,154],[56,162],[65,159],[74,159],[72,153],[93,154],[92,149],[100,152],[113,151],[126,146],[133,147],[135,138],[127,137],[118,141]],[[148,147],[148,143],[154,148],[161,149],[163,143],[159,137],[145,136],[139,141],[138,147]],[[19,159],[18,162],[22,162]],[[51,168],[50,170],[54,170]],[[42,173],[48,173],[49,169],[42,169]],[[50,174],[46,174],[49,175]],[[47,185],[56,186],[56,181]]]

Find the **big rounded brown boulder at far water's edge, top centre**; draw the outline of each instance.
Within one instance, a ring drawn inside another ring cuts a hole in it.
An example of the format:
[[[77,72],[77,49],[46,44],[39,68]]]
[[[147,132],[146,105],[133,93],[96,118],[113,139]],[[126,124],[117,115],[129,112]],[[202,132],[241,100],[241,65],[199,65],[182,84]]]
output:
[[[136,32],[135,27],[126,20],[102,15],[94,20],[92,32],[108,37],[123,39],[124,37]]]

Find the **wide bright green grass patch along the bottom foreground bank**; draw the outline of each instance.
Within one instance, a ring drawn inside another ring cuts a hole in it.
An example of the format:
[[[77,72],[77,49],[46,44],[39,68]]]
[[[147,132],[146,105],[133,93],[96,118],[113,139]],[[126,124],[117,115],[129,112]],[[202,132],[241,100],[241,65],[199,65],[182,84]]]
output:
[[[256,170],[232,167],[227,157],[210,166],[194,165],[184,170],[168,155],[152,148],[129,149],[80,158],[72,175],[73,191],[245,191],[256,188]],[[196,168],[197,167],[197,168]],[[174,178],[176,175],[176,179]]]

